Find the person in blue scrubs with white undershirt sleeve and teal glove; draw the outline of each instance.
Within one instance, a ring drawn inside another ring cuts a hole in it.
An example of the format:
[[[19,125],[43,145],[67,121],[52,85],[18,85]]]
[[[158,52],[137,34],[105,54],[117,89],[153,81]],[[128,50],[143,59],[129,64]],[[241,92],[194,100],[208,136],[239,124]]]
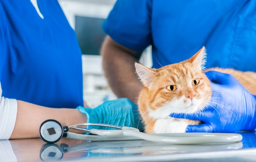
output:
[[[0,140],[39,137],[47,119],[135,126],[128,99],[82,106],[82,54],[57,0],[0,0],[0,51]]]

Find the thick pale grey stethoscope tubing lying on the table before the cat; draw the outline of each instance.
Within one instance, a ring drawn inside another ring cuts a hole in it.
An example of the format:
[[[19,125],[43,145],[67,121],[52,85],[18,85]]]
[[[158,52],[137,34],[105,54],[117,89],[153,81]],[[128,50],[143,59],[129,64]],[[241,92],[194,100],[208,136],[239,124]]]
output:
[[[134,130],[101,130],[91,129],[92,134],[84,135],[67,132],[67,138],[92,141],[109,140],[147,140],[151,142],[168,144],[206,144],[238,142],[243,136],[240,134],[224,133],[170,133],[170,134],[146,134]],[[97,136],[98,135],[98,136]]]

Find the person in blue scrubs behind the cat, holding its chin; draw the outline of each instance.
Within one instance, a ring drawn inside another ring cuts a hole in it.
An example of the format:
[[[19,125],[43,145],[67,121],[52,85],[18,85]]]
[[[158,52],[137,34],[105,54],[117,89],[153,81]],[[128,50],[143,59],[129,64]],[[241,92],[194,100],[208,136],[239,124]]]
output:
[[[101,55],[110,87],[117,97],[128,97],[137,102],[142,85],[135,74],[134,63],[139,62],[142,51],[150,45],[153,68],[184,61],[205,46],[206,68],[234,68],[256,72],[255,5],[255,0],[117,0],[103,23],[103,30],[107,36],[102,45]],[[227,76],[219,73],[208,75],[218,83],[227,83],[230,89],[231,85],[236,83],[231,77],[230,80],[225,80]],[[220,119],[212,117],[212,120],[208,121],[209,114],[204,114],[206,119],[203,121],[211,123],[211,129],[209,125],[208,128],[192,126],[187,131],[255,130],[255,97],[244,91],[246,90],[239,86],[238,89],[230,91],[230,96],[236,94],[231,100],[237,101],[235,105],[231,105],[228,100],[220,99],[221,103],[227,104],[234,113],[228,112],[234,121],[227,117],[227,121],[224,120],[222,124],[229,123],[231,128],[235,126],[237,129],[229,130],[222,126],[218,126],[220,130],[213,129],[217,127],[216,122]],[[215,108],[221,112],[222,108],[219,105]],[[223,116],[227,116],[226,112],[222,112]],[[241,113],[243,120],[236,120],[236,116],[240,116]],[[198,120],[196,116],[191,118]],[[248,123],[252,123],[250,128],[236,126],[238,121],[247,123],[247,119]]]

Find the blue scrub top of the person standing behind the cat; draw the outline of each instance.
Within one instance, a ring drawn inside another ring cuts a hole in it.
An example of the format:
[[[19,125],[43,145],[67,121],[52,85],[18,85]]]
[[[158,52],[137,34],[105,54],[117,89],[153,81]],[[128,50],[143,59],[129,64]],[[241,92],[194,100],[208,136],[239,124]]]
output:
[[[255,6],[256,0],[117,0],[103,30],[133,50],[152,45],[153,68],[205,46],[206,68],[256,71]]]

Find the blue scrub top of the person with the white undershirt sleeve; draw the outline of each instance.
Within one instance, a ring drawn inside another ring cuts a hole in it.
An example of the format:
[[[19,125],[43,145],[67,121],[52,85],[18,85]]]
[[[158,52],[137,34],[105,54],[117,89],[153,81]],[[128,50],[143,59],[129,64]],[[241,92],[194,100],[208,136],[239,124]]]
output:
[[[81,50],[57,0],[0,1],[2,96],[47,107],[83,105]]]

